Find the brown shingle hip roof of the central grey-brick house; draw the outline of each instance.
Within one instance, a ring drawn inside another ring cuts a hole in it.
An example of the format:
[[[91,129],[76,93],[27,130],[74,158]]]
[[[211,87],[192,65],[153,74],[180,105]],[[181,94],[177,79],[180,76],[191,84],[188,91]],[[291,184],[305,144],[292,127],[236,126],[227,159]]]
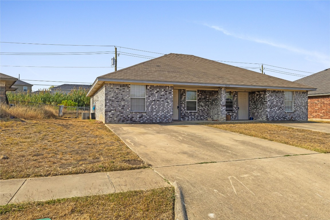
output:
[[[99,78],[314,88],[205,58],[170,53]],[[110,81],[110,80],[109,80]]]

